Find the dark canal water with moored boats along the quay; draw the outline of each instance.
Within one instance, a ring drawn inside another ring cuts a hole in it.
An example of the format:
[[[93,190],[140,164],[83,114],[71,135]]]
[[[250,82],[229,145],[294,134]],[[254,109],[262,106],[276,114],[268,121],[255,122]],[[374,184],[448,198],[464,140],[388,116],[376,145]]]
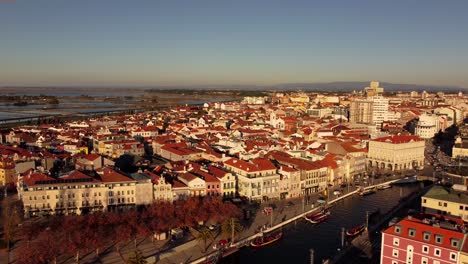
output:
[[[368,196],[353,195],[336,203],[330,218],[318,225],[298,220],[283,228],[283,238],[260,249],[244,247],[223,259],[221,263],[310,263],[309,249],[314,249],[315,263],[322,263],[337,253],[341,245],[341,228],[364,224],[366,211],[380,209],[382,213],[399,203],[400,195],[407,196],[421,189],[420,184],[393,186]]]

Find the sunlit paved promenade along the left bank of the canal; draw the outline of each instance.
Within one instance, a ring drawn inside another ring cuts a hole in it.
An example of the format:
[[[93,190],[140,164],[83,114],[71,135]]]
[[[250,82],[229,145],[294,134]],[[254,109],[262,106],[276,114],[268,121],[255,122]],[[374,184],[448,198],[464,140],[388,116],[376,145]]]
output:
[[[386,185],[397,181],[398,179],[390,179],[383,181],[380,179],[379,183],[367,186],[364,189],[372,189],[381,185]],[[359,189],[359,188],[358,188]],[[334,190],[342,191],[342,195],[335,197],[327,202],[327,207],[332,206],[334,203],[346,199],[349,196],[355,195],[358,192],[358,189],[355,187],[349,188],[349,191],[345,192],[341,188],[334,188],[329,190],[329,198],[331,199],[332,193]],[[238,235],[237,242],[235,242],[231,248],[237,249],[243,246],[246,246],[250,243],[251,240],[256,237],[261,236],[261,233],[258,233],[258,227],[263,225],[271,225],[264,229],[264,233],[272,232],[280,229],[281,227],[294,223],[295,221],[300,221],[305,215],[318,211],[321,209],[320,206],[317,206],[315,201],[319,197],[319,194],[312,195],[308,197],[307,200],[298,198],[298,199],[288,199],[286,201],[277,201],[275,203],[277,209],[274,210],[273,214],[266,216],[263,213],[257,213],[253,223],[247,227],[240,235]],[[292,202],[293,206],[287,206],[288,202]],[[265,205],[268,206],[268,205]],[[219,239],[216,239],[214,243],[218,242]],[[163,252],[147,258],[148,263],[209,263],[213,259],[221,257],[221,252],[219,250],[213,249],[211,243],[208,247],[207,252],[203,253],[201,243],[197,243],[196,240],[192,241],[190,245],[184,244],[179,247],[172,248],[170,251]],[[229,249],[228,249],[229,251]]]

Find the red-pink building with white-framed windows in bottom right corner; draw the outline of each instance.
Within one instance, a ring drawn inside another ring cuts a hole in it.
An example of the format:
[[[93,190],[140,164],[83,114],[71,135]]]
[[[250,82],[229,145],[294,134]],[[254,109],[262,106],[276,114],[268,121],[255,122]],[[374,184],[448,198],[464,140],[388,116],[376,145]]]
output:
[[[382,231],[380,263],[458,263],[464,237],[456,225],[443,219],[407,217]]]

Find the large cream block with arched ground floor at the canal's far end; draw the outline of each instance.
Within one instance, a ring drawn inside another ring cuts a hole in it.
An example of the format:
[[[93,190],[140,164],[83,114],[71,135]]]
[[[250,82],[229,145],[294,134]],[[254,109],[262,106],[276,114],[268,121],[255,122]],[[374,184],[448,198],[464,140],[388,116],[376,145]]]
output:
[[[400,171],[424,166],[425,143],[418,136],[394,135],[369,141],[369,169]]]

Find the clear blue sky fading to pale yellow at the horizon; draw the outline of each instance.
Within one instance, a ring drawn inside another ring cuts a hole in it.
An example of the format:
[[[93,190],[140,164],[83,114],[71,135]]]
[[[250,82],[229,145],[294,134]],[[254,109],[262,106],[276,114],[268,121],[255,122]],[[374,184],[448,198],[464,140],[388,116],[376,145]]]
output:
[[[468,87],[467,0],[0,0],[0,86]]]

